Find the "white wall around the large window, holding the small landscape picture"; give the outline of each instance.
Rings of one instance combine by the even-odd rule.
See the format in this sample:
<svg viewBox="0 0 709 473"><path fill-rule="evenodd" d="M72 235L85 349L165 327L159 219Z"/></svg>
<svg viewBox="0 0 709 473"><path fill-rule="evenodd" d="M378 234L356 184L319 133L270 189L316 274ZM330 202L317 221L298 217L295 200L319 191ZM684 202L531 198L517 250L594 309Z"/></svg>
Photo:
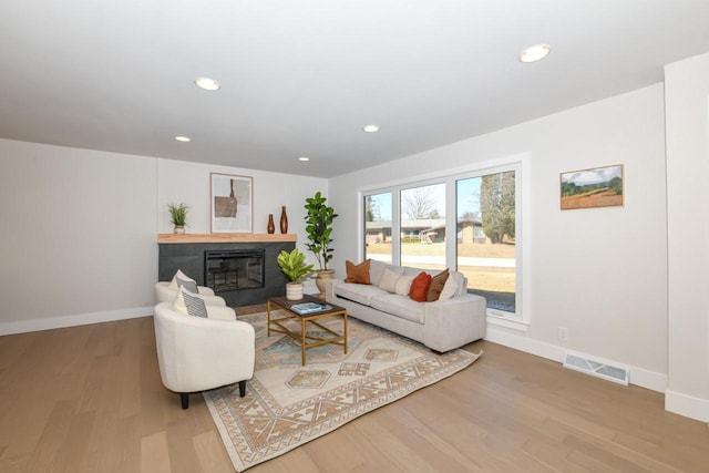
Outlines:
<svg viewBox="0 0 709 473"><path fill-rule="evenodd" d="M667 374L667 236L664 93L657 84L625 95L454 143L330 181L341 217L335 268L362 255L357 189L440 169L526 156L523 198L531 208L531 325L526 332L491 327L490 338L561 359L569 349L633 369L631 380L664 390ZM559 173L625 165L625 206L559 209ZM445 172L445 171L443 171ZM394 177L395 176L395 177ZM566 343L557 328L568 329Z"/></svg>

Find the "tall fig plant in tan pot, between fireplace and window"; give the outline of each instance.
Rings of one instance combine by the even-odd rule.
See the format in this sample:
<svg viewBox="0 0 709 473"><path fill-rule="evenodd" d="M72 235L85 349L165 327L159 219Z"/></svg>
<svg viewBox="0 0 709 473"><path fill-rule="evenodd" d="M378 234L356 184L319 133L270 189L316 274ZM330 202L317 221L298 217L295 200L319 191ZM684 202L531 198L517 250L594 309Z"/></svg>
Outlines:
<svg viewBox="0 0 709 473"><path fill-rule="evenodd" d="M333 269L328 268L328 261L332 259L331 247L332 238L332 220L337 217L335 209L327 205L327 197L318 191L314 197L306 198L305 208L306 215L306 232L308 234L309 243L306 247L315 254L320 269L316 273L318 277L315 282L320 290L320 294L325 292L326 281L332 278L335 274Z"/></svg>

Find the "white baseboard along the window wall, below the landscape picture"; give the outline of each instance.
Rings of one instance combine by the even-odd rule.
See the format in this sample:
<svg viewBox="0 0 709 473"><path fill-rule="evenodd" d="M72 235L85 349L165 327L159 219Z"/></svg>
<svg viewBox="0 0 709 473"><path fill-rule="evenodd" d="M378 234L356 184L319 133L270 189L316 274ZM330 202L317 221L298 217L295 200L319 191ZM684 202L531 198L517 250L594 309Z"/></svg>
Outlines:
<svg viewBox="0 0 709 473"><path fill-rule="evenodd" d="M485 340L494 343L504 345L505 347L514 348L515 350L524 351L526 353L535 354L537 357L546 358L562 363L564 361L564 353L566 348L552 343L546 343L540 340L533 340L526 337L520 337L511 333L506 330L501 330L497 327L487 325L487 336ZM595 353L575 353L583 354L587 358L598 359ZM665 393L667 390L667 374L649 371L644 368L633 367L613 360L602 360L609 364L621 366L630 372L630 384L639 385L640 388L650 389L653 391Z"/></svg>

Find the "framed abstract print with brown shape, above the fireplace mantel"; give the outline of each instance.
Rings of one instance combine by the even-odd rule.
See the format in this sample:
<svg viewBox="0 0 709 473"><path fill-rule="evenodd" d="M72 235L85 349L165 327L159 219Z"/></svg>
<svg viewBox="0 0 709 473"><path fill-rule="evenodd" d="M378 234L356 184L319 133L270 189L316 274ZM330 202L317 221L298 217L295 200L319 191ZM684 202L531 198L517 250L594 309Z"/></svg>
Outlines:
<svg viewBox="0 0 709 473"><path fill-rule="evenodd" d="M212 233L253 233L254 179L210 173Z"/></svg>

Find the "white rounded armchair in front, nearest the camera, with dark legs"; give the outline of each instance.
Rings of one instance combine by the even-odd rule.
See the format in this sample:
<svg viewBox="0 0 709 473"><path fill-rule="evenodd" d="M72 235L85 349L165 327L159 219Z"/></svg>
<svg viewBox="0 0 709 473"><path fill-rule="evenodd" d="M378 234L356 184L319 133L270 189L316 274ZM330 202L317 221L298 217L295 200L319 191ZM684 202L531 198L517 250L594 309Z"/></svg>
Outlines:
<svg viewBox="0 0 709 473"><path fill-rule="evenodd" d="M174 311L167 302L155 306L155 340L160 374L165 388L178 392L182 408L189 393L239 383L254 376L255 332L237 321L233 309L207 306L208 318Z"/></svg>

